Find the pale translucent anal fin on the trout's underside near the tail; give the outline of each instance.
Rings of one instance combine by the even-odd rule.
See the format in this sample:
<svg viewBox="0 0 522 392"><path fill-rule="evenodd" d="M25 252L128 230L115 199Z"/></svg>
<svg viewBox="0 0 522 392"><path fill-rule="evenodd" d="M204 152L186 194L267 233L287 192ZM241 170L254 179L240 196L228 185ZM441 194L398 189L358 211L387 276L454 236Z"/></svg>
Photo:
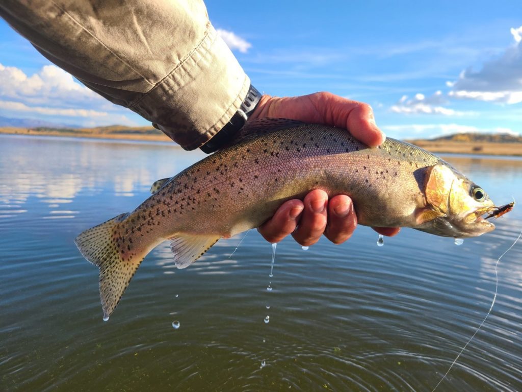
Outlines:
<svg viewBox="0 0 522 392"><path fill-rule="evenodd" d="M170 248L177 268L187 268L216 244L220 235L179 234L170 239Z"/></svg>

